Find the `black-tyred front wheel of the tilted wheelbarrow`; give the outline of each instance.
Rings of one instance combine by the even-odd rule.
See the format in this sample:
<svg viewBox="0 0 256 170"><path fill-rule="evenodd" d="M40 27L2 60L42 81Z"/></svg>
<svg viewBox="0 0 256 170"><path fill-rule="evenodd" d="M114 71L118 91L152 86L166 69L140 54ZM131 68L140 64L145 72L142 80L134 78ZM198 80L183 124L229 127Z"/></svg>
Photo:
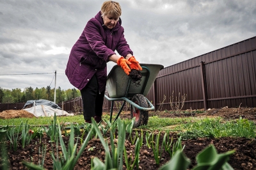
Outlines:
<svg viewBox="0 0 256 170"><path fill-rule="evenodd" d="M132 102L139 105L140 107L148 107L147 99L137 94L132 97ZM131 118L135 117L133 127L140 127L140 125L147 125L148 123L148 111L143 111L131 105Z"/></svg>

